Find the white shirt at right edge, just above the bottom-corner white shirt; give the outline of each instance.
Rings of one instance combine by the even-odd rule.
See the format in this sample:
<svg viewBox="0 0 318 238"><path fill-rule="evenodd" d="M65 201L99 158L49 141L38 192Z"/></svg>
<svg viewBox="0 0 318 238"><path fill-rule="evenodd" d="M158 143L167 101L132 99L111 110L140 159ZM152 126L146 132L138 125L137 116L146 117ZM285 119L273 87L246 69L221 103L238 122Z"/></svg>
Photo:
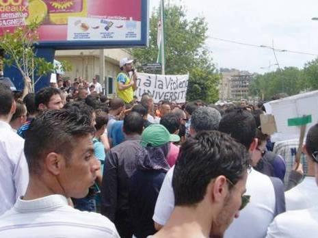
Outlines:
<svg viewBox="0 0 318 238"><path fill-rule="evenodd" d="M318 187L315 177L307 176L304 181L285 192L286 211L308 209L318 205Z"/></svg>

